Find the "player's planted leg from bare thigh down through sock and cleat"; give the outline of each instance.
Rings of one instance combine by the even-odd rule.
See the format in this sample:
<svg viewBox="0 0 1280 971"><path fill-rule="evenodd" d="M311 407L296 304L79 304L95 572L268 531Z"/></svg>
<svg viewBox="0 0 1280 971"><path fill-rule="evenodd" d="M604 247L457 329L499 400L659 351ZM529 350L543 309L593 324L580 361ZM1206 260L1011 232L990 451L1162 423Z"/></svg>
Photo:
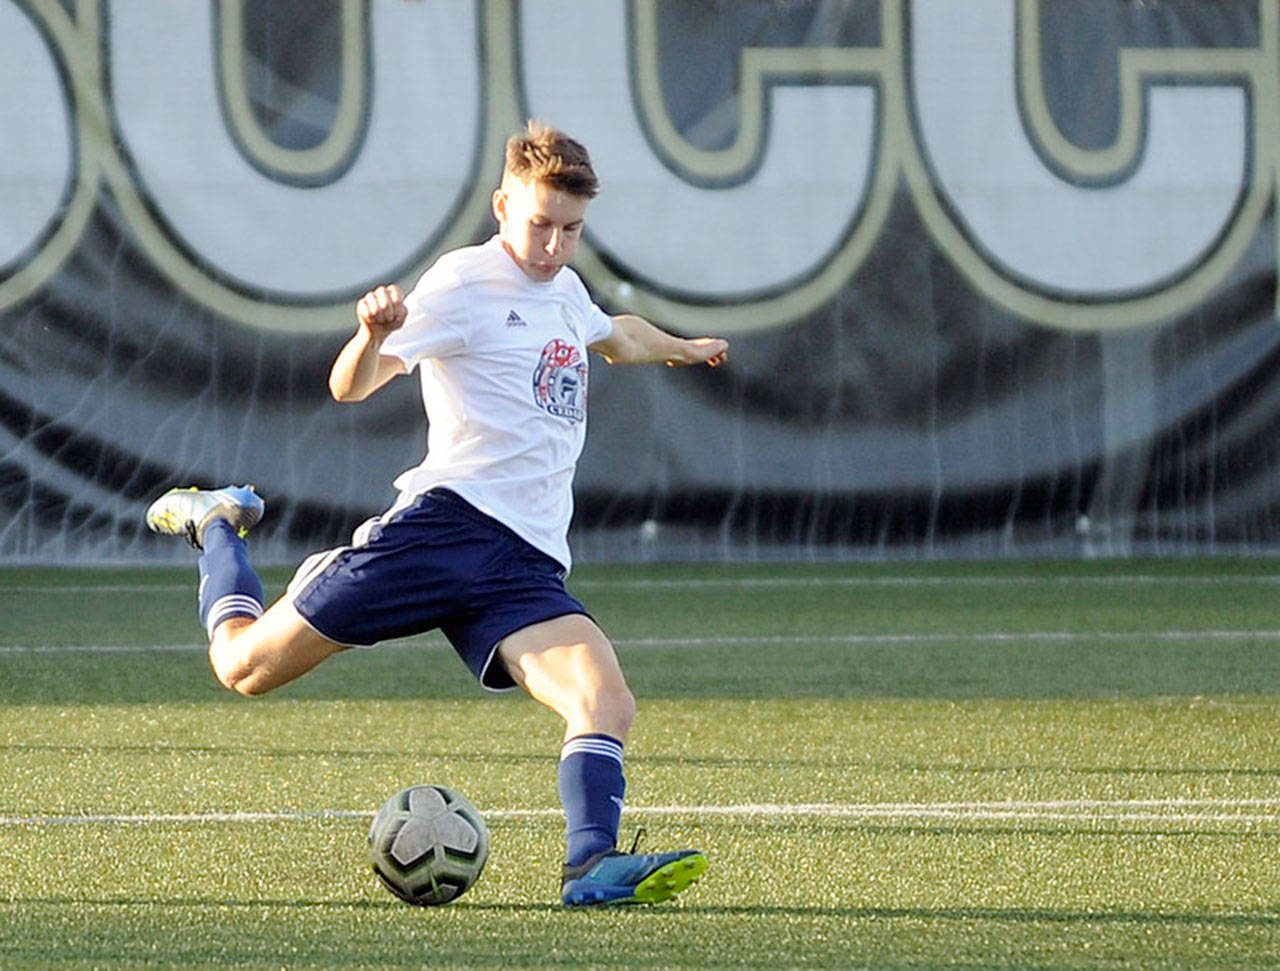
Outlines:
<svg viewBox="0 0 1280 971"><path fill-rule="evenodd" d="M589 617L570 614L517 631L498 651L516 683L564 719L559 794L567 862L561 901L570 907L655 903L701 876L707 857L696 849L616 848L626 789L622 743L635 699L604 632Z"/></svg>

